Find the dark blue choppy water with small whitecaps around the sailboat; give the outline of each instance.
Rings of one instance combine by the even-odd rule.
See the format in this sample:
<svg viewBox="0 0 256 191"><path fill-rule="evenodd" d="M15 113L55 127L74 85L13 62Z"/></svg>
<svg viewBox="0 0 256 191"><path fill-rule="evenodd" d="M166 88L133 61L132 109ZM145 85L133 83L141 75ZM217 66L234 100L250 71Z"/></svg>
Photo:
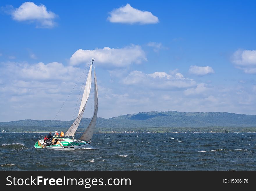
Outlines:
<svg viewBox="0 0 256 191"><path fill-rule="evenodd" d="M35 149L39 135L0 133L0 170L256 170L256 133L97 133L74 151Z"/></svg>

